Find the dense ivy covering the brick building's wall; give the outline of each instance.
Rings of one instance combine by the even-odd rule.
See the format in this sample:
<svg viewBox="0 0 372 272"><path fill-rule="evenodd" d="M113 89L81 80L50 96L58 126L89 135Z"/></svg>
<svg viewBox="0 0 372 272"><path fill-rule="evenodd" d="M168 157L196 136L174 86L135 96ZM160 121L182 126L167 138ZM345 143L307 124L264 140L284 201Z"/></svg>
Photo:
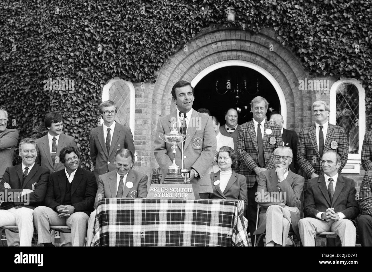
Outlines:
<svg viewBox="0 0 372 272"><path fill-rule="evenodd" d="M0 107L9 111L8 127L40 137L45 114L60 112L87 168L105 83L156 80L167 58L212 24L274 29L310 74L360 80L372 123L370 0L1 2ZM225 19L229 6L237 12L233 23Z"/></svg>

